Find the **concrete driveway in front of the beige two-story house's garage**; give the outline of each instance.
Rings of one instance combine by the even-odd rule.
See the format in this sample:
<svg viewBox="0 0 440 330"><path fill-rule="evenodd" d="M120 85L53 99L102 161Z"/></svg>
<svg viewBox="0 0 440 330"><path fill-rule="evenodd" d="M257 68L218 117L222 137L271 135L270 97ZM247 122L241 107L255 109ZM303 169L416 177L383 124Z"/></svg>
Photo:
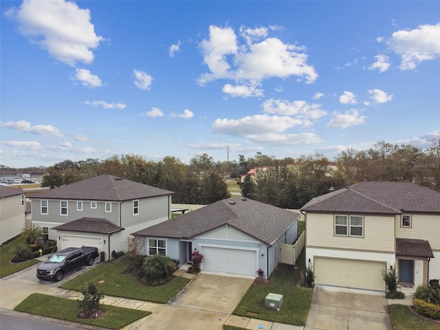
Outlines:
<svg viewBox="0 0 440 330"><path fill-rule="evenodd" d="M316 285L305 329L392 330L384 293Z"/></svg>

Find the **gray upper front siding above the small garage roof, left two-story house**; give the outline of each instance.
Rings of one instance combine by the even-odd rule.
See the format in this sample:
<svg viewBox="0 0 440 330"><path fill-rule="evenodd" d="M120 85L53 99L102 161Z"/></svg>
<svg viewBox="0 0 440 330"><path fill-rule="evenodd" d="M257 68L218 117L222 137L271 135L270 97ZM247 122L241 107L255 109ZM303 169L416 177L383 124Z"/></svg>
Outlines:
<svg viewBox="0 0 440 330"><path fill-rule="evenodd" d="M43 199L45 200L45 199ZM105 212L105 201L96 201L97 207L91 208L90 201L83 201L83 210L76 209L77 201L67 201L67 216L61 215L59 199L48 199L48 214L41 214L41 199L32 199L32 221L44 221L49 223L67 223L83 217L107 219L119 225L119 203L111 203L111 212Z"/></svg>

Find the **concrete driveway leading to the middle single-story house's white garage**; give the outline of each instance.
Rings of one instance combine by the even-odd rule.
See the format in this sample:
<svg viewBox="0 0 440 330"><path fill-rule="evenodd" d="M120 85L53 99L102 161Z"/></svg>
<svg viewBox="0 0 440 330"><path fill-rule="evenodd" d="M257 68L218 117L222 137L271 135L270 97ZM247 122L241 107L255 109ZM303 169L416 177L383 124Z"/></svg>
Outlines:
<svg viewBox="0 0 440 330"><path fill-rule="evenodd" d="M199 274L173 301L124 329L221 330L254 278Z"/></svg>

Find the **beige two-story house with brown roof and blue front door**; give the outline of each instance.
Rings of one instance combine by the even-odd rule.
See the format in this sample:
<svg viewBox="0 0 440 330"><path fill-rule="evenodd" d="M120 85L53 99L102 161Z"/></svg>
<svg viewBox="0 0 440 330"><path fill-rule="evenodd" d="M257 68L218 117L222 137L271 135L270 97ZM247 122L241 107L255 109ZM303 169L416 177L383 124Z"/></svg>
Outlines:
<svg viewBox="0 0 440 330"><path fill-rule="evenodd" d="M316 284L385 290L397 267L402 287L440 278L440 192L410 182L362 182L311 199L306 261Z"/></svg>

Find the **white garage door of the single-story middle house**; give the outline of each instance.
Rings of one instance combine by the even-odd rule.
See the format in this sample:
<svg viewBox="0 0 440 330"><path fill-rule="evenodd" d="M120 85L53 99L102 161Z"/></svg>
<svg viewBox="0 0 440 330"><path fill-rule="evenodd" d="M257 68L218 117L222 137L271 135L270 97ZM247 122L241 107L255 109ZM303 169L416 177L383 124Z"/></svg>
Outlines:
<svg viewBox="0 0 440 330"><path fill-rule="evenodd" d="M201 270L233 275L256 276L256 250L201 247L204 256Z"/></svg>

